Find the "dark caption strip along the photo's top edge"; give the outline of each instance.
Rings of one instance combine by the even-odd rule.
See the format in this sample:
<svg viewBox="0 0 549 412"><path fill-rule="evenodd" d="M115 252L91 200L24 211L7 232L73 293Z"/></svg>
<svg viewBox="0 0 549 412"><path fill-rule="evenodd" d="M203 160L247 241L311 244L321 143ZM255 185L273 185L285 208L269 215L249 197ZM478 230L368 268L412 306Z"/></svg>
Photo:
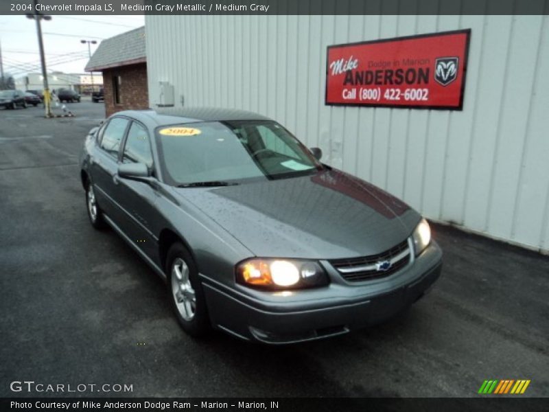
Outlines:
<svg viewBox="0 0 549 412"><path fill-rule="evenodd" d="M0 1L0 14L26 14L29 10L12 10L11 4L26 5L32 0L3 0ZM109 10L89 9L85 12L76 11L75 5L102 5L112 4L114 14L135 15L135 14L156 14L156 15L174 15L174 14L202 14L202 15L349 15L349 14L371 14L371 15L474 15L474 14L494 14L494 15L543 15L549 14L549 0L231 0L231 1L212 1L212 0L109 0L100 2L97 0L40 0L41 3L48 5L65 5L60 10L43 10L46 14L54 15L113 15ZM179 11L176 8L172 10L156 10L156 4L160 5L200 5L191 10ZM232 8L230 10L215 10L215 4L225 5L245 5L246 8ZM251 5L259 4L269 6L268 10L250 10ZM121 10L121 5L140 5L137 10ZM143 5L152 6L150 10L145 11ZM71 7L69 7L71 6Z"/></svg>

